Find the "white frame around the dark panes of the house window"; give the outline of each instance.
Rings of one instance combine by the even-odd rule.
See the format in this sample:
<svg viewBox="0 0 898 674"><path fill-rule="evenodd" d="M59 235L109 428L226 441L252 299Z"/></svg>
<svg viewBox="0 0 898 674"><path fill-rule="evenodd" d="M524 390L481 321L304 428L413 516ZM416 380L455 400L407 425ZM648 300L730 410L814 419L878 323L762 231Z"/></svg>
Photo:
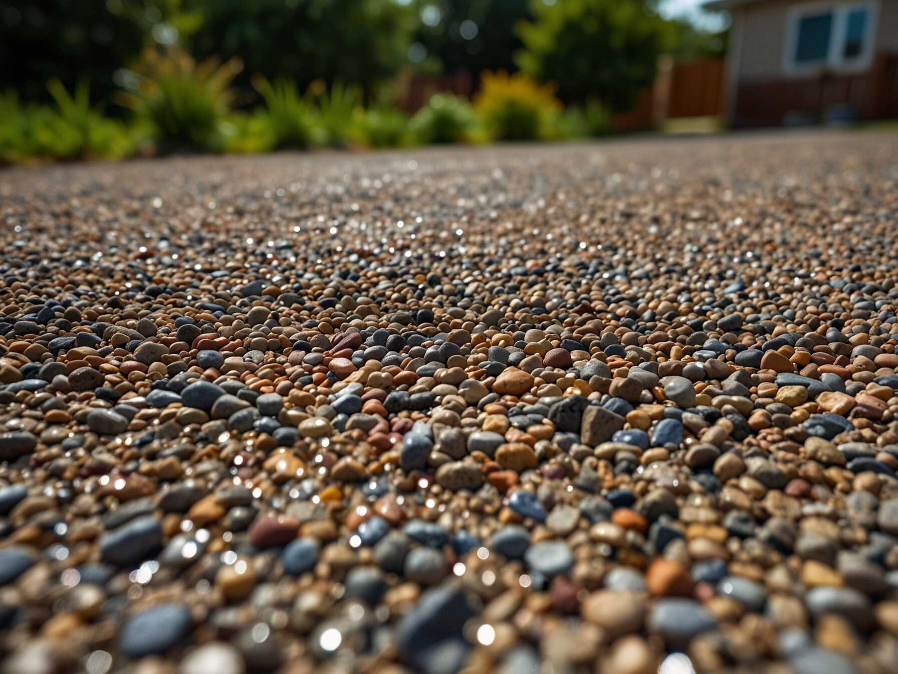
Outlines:
<svg viewBox="0 0 898 674"><path fill-rule="evenodd" d="M842 57L845 49L845 29L852 10L863 7L867 10L867 27L861 44L860 54L849 60ZM786 40L783 43L782 69L788 75L816 75L823 70L837 73L851 73L867 70L873 61L876 42L876 21L879 0L858 0L856 2L816 2L801 3L789 8L786 16ZM813 63L796 63L795 50L798 46L798 27L802 19L824 12L832 13L832 31L827 57Z"/></svg>

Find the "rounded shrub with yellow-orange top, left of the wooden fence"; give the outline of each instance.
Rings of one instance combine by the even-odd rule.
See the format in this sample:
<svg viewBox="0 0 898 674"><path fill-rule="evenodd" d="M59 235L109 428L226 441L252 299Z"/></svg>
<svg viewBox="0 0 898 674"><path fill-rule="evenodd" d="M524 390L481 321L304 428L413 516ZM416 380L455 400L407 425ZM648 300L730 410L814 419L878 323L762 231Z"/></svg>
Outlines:
<svg viewBox="0 0 898 674"><path fill-rule="evenodd" d="M538 84L524 73L484 71L474 110L497 140L539 140L552 136L561 103L551 84Z"/></svg>

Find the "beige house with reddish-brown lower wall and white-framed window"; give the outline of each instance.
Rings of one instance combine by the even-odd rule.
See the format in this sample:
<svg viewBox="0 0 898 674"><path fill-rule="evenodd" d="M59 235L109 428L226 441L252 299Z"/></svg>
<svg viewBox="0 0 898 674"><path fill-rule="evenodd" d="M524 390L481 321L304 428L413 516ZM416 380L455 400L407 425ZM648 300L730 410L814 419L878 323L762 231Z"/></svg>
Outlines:
<svg viewBox="0 0 898 674"><path fill-rule="evenodd" d="M714 0L735 128L898 117L898 0Z"/></svg>

